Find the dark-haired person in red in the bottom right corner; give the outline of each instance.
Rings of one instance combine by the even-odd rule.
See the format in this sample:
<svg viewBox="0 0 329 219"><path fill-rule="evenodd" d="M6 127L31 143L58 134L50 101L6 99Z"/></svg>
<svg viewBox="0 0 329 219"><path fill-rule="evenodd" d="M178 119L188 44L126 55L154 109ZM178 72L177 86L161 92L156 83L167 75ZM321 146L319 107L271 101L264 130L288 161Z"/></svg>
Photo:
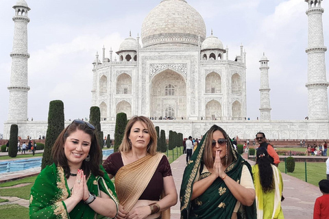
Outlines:
<svg viewBox="0 0 329 219"><path fill-rule="evenodd" d="M319 188L322 196L315 200L313 219L329 218L329 180L322 179L319 181Z"/></svg>

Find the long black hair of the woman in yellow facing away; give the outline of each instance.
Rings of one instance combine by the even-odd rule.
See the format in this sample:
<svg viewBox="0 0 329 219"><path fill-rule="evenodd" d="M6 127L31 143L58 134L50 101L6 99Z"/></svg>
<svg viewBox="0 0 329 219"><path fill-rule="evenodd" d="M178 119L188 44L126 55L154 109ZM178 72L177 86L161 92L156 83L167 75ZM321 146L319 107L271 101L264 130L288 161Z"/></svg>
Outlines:
<svg viewBox="0 0 329 219"><path fill-rule="evenodd" d="M274 189L273 169L269 153L263 147L257 149L256 164L258 164L260 185L262 185L263 192L271 192Z"/></svg>

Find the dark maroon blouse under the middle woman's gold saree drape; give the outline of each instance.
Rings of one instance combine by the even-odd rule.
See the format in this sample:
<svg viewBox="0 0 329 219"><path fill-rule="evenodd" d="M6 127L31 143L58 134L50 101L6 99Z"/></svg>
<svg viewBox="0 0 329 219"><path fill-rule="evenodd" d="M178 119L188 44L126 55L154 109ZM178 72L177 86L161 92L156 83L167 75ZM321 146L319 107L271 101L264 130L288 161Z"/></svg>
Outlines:
<svg viewBox="0 0 329 219"><path fill-rule="evenodd" d="M123 166L121 153L112 153L103 163L103 167L108 174L115 176L118 170ZM160 160L156 172L149 181L141 197L138 200L159 201L163 190L163 177L172 176L170 164L166 156Z"/></svg>

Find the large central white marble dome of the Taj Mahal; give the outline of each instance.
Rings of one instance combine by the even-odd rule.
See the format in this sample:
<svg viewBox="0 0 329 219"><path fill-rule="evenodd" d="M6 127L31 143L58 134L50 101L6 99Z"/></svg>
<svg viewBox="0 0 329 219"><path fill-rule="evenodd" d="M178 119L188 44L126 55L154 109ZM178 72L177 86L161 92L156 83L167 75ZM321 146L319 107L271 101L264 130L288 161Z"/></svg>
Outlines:
<svg viewBox="0 0 329 219"><path fill-rule="evenodd" d="M163 0L142 24L143 47L197 46L206 38L202 16L184 0Z"/></svg>

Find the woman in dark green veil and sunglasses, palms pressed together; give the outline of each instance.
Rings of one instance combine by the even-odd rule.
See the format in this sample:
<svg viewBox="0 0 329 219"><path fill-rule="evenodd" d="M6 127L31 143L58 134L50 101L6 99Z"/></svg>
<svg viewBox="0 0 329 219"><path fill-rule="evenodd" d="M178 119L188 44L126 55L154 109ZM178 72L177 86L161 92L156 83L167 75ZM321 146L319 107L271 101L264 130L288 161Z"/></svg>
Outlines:
<svg viewBox="0 0 329 219"><path fill-rule="evenodd" d="M252 168L213 125L184 170L181 218L256 219Z"/></svg>

